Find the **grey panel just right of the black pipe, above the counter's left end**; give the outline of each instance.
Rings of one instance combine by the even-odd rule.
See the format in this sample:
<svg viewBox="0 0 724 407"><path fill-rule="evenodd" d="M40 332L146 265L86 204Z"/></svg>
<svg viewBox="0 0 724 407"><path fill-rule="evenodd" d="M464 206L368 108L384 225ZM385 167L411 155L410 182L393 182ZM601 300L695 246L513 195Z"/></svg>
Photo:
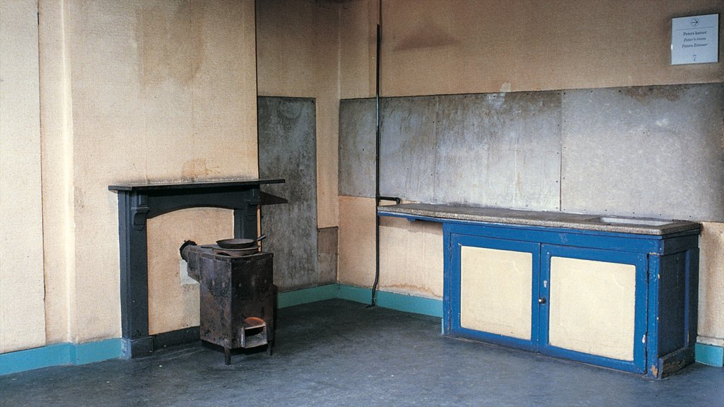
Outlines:
<svg viewBox="0 0 724 407"><path fill-rule="evenodd" d="M380 101L379 191L433 202L438 96Z"/></svg>

